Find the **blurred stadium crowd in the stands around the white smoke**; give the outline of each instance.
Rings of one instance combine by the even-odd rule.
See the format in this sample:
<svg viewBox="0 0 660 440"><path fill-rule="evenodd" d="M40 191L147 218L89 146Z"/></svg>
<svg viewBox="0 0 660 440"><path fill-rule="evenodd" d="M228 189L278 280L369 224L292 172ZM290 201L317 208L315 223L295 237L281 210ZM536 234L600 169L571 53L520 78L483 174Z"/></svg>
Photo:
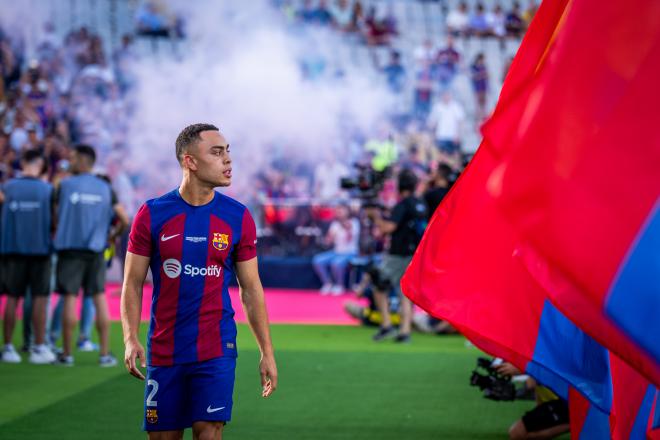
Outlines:
<svg viewBox="0 0 660 440"><path fill-rule="evenodd" d="M365 169L383 172L378 192L371 197L388 211L400 196L397 179L402 172L411 172L419 182L412 195L427 202L432 199L426 207L428 219L469 159L464 150L466 132L487 115L488 96L497 84L489 78L483 53L468 65L461 48L471 40L519 39L535 2L524 11L517 2L506 12L498 4L487 11L479 2L445 8L445 34L429 35L409 52L399 48L407 30L388 4L360 0L273 0L271 4L301 38L306 30L323 27L335 30L348 45L366 47L372 55L369 68L400 104L371 132L346 130L334 141L340 147L325 149L325 156L316 160L285 158L276 146L265 145L272 149L270 159L252 171L250 181L256 184L241 194L255 211L263 238L260 252L310 260L316 255L321 291L341 294L353 287L349 275L361 274L360 268L370 261L364 263L359 257L381 253L391 237L375 227L373 213L361 207L364 188L348 190L340 181L356 173L359 177ZM135 99L130 66L137 57L148 55L140 52L135 39L185 38L185 22L164 5L143 2L135 15L134 34L123 36L110 55L108 45L93 30L72 29L59 41L53 26L46 24L36 53L28 58L20 36L0 29L0 183L21 177L23 161L37 152L45 161L38 177L58 187L72 171L74 146L91 145L99 158L96 170L113 182L129 217L141 201L155 195L145 193L149 186L144 183L150 177L144 170L122 158L129 151L127 127ZM441 39L444 45L436 46ZM501 56L509 58L505 45L501 47ZM300 59L300 69L309 81L318 81L338 74L330 68L337 65L331 61L308 53ZM456 93L456 78L461 75L469 78L474 105ZM362 167L359 172L354 164ZM442 331L451 329L442 327Z"/></svg>

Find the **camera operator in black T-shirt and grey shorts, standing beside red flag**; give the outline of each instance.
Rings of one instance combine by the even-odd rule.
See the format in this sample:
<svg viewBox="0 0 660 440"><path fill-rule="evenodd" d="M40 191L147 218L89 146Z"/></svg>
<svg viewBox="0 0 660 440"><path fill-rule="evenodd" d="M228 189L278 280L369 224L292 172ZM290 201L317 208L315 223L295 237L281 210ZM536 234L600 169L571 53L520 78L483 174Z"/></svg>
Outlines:
<svg viewBox="0 0 660 440"><path fill-rule="evenodd" d="M396 334L389 316L387 297L388 290L394 287L401 296L401 324L395 341L410 342L412 303L401 295L399 284L426 226L426 205L414 196L416 186L415 174L403 169L399 173L397 184L399 202L392 209L389 218L384 219L377 208L367 208L366 211L376 227L383 234L390 236L387 254L383 256L376 276L373 277L374 299L383 317L380 330L373 337L374 341L394 337Z"/></svg>

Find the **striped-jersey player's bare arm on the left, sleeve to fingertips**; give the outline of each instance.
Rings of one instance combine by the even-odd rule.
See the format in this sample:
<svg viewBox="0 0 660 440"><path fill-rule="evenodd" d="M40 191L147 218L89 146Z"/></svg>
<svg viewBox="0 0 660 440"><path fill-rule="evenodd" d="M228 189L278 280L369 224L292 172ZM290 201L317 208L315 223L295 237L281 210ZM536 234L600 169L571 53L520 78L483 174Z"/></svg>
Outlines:
<svg viewBox="0 0 660 440"><path fill-rule="evenodd" d="M140 344L140 315L142 313L142 286L149 269L149 257L126 253L124 285L121 291L121 326L124 332L124 364L126 369L138 379L144 375L137 368L140 359L142 368L147 366L144 347Z"/></svg>

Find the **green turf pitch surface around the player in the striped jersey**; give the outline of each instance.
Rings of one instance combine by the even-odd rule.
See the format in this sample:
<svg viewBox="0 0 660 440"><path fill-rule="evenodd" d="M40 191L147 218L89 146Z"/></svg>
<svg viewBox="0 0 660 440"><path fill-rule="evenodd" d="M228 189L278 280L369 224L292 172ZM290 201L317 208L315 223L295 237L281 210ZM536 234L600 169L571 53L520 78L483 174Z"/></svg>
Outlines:
<svg viewBox="0 0 660 440"><path fill-rule="evenodd" d="M20 329L20 325L17 326ZM529 401L492 402L468 384L478 350L461 337L414 335L374 343L373 329L273 325L280 384L260 396L258 351L239 326L232 422L226 439L505 439ZM17 338L18 340L18 338ZM121 330L112 347L123 356ZM0 364L0 439L143 438L144 383L124 367ZM189 430L185 438L192 438Z"/></svg>

